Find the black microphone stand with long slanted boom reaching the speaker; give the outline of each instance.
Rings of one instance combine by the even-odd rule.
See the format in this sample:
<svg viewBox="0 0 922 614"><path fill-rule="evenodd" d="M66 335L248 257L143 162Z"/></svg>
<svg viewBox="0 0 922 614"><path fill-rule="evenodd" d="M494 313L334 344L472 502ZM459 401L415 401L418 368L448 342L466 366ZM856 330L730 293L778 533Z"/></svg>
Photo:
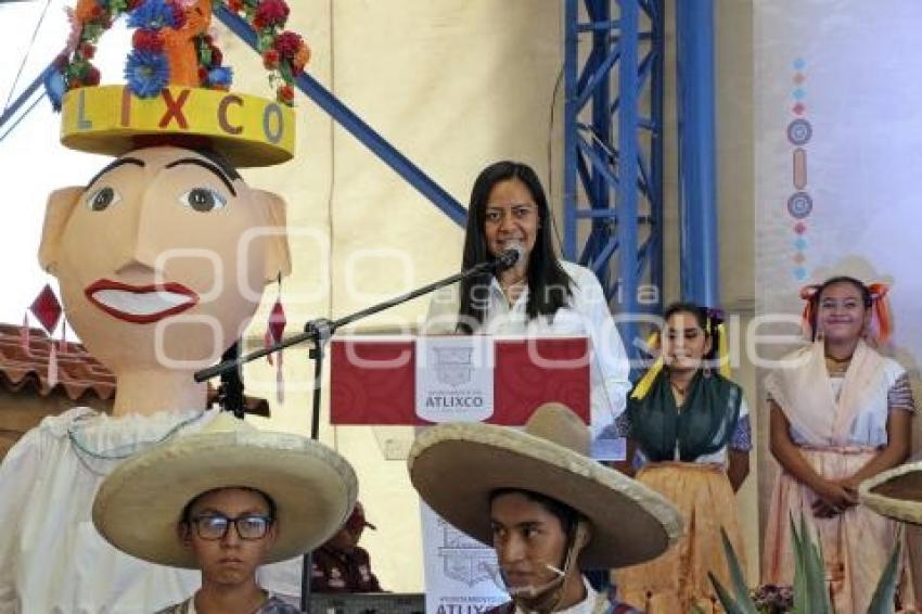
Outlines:
<svg viewBox="0 0 922 614"><path fill-rule="evenodd" d="M289 338L282 340L279 343L272 345L271 347L264 347L255 351L251 351L245 356L222 360L220 363L214 367L196 371L194 374L194 379L196 382L204 382L206 380L210 380L212 378L221 375L228 371L240 369L243 364L256 360L257 358L262 358L264 356L268 356L269 354L279 351L280 349L284 349L286 347L291 347L293 345L310 341L313 346L311 347L310 353L308 355L310 359L313 360L313 405L311 410L310 438L317 440L320 437L320 382L321 373L323 371L324 348L326 346L326 342L330 341L330 337L333 336L333 333L336 332L337 329L340 329L341 327L345 327L346 324L350 324L356 320L361 320L362 318L367 318L368 316L377 314L379 311L384 311L385 309L396 307L397 305L400 305L408 300L412 300L413 298L417 298L419 296L430 294L431 292L435 292L436 290L445 287L446 285L451 285L452 283L457 283L459 281L485 272L508 269L515 265L516 261L518 261L521 255L521 247L508 250L500 254L494 260L481 263L479 265L475 265L470 269L461 271L460 273L456 273L451 277L447 277L439 281L430 283L428 285L424 285L406 294L401 294L395 298L385 300L384 303L372 305L371 307L362 309L361 311L357 311L350 316L340 318L338 320L329 320L326 318L318 318L315 320L310 320L304 325L304 332L293 335ZM310 552L306 552L304 554L304 562L300 575L300 609L303 612L310 611L310 573L311 554Z"/></svg>

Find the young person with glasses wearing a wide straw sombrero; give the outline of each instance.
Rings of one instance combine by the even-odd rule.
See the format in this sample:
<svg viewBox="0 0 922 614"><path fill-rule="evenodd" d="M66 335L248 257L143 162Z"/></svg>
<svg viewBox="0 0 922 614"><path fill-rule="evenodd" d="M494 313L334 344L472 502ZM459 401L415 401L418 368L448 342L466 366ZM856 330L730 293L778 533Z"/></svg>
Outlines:
<svg viewBox="0 0 922 614"><path fill-rule="evenodd" d="M202 587L164 614L287 614L298 610L264 590L256 568L323 543L356 490L353 468L326 446L222 413L116 468L92 519L132 557L201 571Z"/></svg>

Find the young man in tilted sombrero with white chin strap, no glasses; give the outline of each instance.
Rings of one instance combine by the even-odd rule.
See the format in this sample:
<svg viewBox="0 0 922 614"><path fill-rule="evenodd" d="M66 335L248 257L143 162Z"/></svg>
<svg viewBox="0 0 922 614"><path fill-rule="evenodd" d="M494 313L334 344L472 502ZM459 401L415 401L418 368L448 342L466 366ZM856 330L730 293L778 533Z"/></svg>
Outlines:
<svg viewBox="0 0 922 614"><path fill-rule="evenodd" d="M441 517L491 543L512 601L502 613L632 612L581 570L620 567L681 534L662 496L589 458L589 428L568 408L538 408L524 431L450 423L422 433L410 479Z"/></svg>

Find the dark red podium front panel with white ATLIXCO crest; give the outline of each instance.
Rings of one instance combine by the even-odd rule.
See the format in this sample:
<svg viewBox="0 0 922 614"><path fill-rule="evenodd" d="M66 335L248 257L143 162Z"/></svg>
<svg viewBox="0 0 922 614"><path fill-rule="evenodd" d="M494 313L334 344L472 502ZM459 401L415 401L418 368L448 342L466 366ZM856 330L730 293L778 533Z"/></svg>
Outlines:
<svg viewBox="0 0 922 614"><path fill-rule="evenodd" d="M578 336L334 337L331 422L520 426L542 404L559 401L588 423L588 347Z"/></svg>

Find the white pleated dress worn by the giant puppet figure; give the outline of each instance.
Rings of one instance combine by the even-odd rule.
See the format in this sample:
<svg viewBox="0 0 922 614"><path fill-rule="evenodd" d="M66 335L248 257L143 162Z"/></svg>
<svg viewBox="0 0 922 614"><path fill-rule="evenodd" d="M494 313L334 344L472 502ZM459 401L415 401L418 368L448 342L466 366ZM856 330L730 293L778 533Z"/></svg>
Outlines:
<svg viewBox="0 0 922 614"><path fill-rule="evenodd" d="M77 407L46 418L17 442L0 464L0 612L150 614L195 592L202 584L199 571L123 553L99 535L90 510L100 483L121 459L194 433L216 414L112 418ZM156 496L151 493L152 499ZM297 594L299 586L292 584L297 574L284 567L261 570L260 584Z"/></svg>

